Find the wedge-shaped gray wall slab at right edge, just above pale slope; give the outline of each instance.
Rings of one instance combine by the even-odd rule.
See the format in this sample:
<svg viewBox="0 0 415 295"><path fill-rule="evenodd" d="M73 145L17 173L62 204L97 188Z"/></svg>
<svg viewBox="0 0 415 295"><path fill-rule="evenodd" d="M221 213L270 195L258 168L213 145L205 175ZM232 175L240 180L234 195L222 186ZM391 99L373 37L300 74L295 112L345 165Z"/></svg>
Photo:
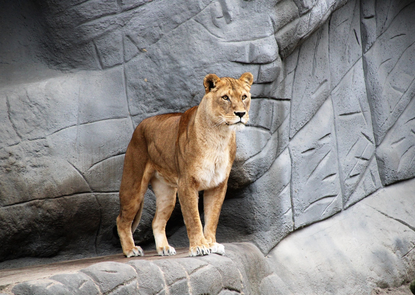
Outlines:
<svg viewBox="0 0 415 295"><path fill-rule="evenodd" d="M376 149L384 185L415 176L415 93Z"/></svg>

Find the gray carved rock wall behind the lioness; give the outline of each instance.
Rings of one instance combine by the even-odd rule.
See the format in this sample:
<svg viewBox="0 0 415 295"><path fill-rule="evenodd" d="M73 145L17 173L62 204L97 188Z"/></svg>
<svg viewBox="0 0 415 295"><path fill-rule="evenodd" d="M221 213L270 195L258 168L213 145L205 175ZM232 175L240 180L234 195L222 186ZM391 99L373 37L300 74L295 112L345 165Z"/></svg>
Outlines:
<svg viewBox="0 0 415 295"><path fill-rule="evenodd" d="M395 0L1 2L0 261L120 251L134 127L197 104L211 72L255 77L219 241L265 254L415 177L414 10ZM149 190L138 243L152 242L154 211ZM188 243L179 207L168 235Z"/></svg>

